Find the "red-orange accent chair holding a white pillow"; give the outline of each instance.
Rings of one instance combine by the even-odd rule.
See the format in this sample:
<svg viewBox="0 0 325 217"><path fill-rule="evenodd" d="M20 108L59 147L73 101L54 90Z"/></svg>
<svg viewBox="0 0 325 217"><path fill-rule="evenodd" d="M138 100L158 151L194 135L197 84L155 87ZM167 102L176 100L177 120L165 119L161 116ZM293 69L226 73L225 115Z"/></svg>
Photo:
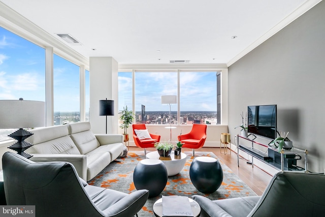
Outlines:
<svg viewBox="0 0 325 217"><path fill-rule="evenodd" d="M143 123L136 123L134 125L132 125L132 128L133 128L133 139L134 139L134 142L136 143L136 145L140 148L144 148L144 155L147 154L147 151L146 151L146 148L151 148L151 147L154 147L154 144L156 142L159 142L160 141L160 135L156 135L156 134L151 134L149 133L151 139L140 139L135 130L146 130L146 125L143 124Z"/></svg>

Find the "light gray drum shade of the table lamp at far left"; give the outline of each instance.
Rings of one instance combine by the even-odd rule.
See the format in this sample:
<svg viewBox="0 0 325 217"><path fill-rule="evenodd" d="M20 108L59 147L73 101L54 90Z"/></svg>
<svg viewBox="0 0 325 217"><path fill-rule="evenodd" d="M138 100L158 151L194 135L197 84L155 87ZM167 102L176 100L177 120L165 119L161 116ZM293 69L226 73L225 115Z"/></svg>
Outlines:
<svg viewBox="0 0 325 217"><path fill-rule="evenodd" d="M45 102L0 100L0 129L45 126Z"/></svg>

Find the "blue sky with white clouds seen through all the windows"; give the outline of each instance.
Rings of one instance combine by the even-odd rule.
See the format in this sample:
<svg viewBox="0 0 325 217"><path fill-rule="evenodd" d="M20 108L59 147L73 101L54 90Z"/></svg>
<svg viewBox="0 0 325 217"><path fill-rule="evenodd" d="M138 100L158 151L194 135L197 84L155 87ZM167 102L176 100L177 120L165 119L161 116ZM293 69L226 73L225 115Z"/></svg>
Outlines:
<svg viewBox="0 0 325 217"><path fill-rule="evenodd" d="M54 112L79 111L79 66L53 56ZM119 105L132 109L132 73L119 73ZM176 72L136 72L136 111L169 110L161 96L177 95ZM216 111L216 72L180 73L180 110ZM45 101L45 49L0 27L0 100ZM86 111L89 111L86 72ZM177 104L171 105L172 111Z"/></svg>

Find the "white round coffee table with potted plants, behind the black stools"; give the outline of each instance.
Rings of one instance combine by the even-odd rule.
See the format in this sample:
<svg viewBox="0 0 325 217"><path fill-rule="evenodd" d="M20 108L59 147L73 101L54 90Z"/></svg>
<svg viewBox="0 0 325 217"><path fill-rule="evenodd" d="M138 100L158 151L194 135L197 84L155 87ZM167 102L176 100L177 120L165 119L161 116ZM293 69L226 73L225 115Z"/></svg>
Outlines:
<svg viewBox="0 0 325 217"><path fill-rule="evenodd" d="M160 157L158 151L151 151L146 154L146 158L161 160L167 168L168 176L173 176L184 168L187 155L181 152L179 156L175 156L174 151L172 151L170 157Z"/></svg>

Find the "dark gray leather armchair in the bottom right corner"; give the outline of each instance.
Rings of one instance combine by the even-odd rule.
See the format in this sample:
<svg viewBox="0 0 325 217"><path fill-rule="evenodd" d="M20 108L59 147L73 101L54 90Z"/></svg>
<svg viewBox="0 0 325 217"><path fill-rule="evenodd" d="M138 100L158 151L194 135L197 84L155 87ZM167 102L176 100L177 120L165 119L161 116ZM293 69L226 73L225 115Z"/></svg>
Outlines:
<svg viewBox="0 0 325 217"><path fill-rule="evenodd" d="M261 197L209 200L194 195L201 216L324 216L325 175L284 171L275 174Z"/></svg>

